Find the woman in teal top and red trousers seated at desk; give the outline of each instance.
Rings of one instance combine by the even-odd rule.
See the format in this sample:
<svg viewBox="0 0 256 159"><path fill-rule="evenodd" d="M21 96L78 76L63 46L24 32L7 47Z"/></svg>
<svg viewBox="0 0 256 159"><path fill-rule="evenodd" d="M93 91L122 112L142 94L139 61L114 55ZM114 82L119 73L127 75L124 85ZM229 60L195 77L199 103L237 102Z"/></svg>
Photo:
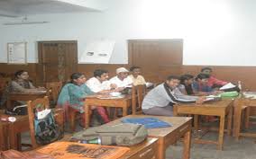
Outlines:
<svg viewBox="0 0 256 159"><path fill-rule="evenodd" d="M71 82L65 84L59 93L58 98L58 107L62 107L66 111L66 117L68 117L68 107L72 107L75 110L78 110L80 113L84 113L84 101L87 96L96 95L92 92L86 83L86 77L80 73L74 73L70 76ZM106 111L103 107L94 107L96 113L104 120L104 122L109 122L109 119L106 115ZM82 115L83 117L83 115Z"/></svg>

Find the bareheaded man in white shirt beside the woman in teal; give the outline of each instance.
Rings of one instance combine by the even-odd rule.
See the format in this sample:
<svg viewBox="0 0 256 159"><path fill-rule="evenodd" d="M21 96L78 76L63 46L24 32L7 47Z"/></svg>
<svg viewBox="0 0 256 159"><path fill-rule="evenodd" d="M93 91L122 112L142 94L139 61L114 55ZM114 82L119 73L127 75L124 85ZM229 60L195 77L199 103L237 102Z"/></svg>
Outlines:
<svg viewBox="0 0 256 159"><path fill-rule="evenodd" d="M109 84L108 71L104 69L96 69L94 77L87 80L87 86L94 93L111 93L116 88L116 84Z"/></svg>

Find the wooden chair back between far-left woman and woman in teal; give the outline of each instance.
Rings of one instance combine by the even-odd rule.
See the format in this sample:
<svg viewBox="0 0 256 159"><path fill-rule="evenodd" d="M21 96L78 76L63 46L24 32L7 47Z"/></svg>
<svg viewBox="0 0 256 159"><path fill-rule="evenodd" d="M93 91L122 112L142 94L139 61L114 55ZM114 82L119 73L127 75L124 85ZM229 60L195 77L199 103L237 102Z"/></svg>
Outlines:
<svg viewBox="0 0 256 159"><path fill-rule="evenodd" d="M62 82L51 82L45 84L47 89L47 96L49 96L50 101L55 105L58 101L58 96L62 88Z"/></svg>

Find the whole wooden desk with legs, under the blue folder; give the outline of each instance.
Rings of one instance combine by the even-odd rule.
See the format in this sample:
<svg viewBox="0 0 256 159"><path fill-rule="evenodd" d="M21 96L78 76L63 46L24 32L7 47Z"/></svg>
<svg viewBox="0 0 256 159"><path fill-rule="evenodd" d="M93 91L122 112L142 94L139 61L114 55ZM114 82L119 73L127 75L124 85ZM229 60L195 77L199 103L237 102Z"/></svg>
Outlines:
<svg viewBox="0 0 256 159"><path fill-rule="evenodd" d="M158 158L165 159L165 151L168 146L175 144L180 137L184 136L183 159L189 159L191 143L191 118L187 117L164 117L148 115L129 115L125 118L157 118L166 121L172 125L169 128L150 128L148 129L149 137L158 138ZM122 119L116 119L108 124L118 124Z"/></svg>

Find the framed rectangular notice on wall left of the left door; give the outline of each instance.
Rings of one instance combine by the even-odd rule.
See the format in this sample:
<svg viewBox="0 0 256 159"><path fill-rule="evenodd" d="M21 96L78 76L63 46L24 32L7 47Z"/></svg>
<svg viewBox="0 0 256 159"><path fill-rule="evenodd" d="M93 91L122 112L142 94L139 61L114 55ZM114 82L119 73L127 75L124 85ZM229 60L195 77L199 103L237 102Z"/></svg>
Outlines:
<svg viewBox="0 0 256 159"><path fill-rule="evenodd" d="M9 42L7 43L7 63L8 64L26 64L27 63L27 43Z"/></svg>

